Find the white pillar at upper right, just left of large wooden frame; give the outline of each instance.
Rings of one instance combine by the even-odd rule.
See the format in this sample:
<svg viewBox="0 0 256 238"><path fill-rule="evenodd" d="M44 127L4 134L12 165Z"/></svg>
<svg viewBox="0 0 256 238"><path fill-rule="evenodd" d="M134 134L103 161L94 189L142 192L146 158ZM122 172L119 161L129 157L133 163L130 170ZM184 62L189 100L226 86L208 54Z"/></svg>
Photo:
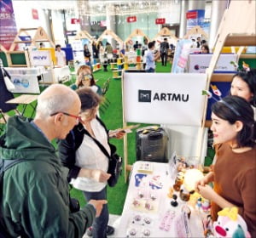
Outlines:
<svg viewBox="0 0 256 238"><path fill-rule="evenodd" d="M218 26L222 20L224 10L227 8L228 1L212 0L211 26L209 34L209 47L212 48L218 31ZM236 16L235 16L236 17Z"/></svg>

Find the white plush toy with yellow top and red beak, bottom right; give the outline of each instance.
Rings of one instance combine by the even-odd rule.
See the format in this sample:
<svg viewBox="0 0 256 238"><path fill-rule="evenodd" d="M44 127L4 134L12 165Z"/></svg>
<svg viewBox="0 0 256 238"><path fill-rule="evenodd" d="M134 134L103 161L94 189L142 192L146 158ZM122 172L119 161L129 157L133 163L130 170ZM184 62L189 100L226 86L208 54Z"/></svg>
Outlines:
<svg viewBox="0 0 256 238"><path fill-rule="evenodd" d="M218 212L218 220L213 223L214 237L251 238L247 224L238 214L237 207L227 207Z"/></svg>

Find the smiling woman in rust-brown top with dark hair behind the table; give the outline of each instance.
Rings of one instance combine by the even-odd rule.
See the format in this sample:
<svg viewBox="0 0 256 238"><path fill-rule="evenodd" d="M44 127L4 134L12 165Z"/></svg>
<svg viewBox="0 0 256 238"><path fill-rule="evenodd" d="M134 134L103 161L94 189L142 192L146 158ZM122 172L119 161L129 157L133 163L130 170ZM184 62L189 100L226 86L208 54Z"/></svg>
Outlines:
<svg viewBox="0 0 256 238"><path fill-rule="evenodd" d="M227 96L212 105L213 170L195 184L212 201L212 220L224 207L238 207L252 237L256 237L256 122L251 105ZM214 189L207 185L214 183Z"/></svg>

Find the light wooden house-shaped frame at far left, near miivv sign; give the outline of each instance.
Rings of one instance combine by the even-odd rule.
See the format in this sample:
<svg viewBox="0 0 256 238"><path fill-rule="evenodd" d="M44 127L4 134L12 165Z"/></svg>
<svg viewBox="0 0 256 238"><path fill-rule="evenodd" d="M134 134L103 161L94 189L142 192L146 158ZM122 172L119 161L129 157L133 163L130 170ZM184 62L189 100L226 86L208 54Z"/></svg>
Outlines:
<svg viewBox="0 0 256 238"><path fill-rule="evenodd" d="M29 34L29 31L30 32L34 31L33 37L32 37L32 34ZM31 40L22 41L20 40L21 35L31 37ZM54 42L50 40L50 38L44 31L43 27L39 26L38 28L20 28L20 31L17 33L14 42L11 44L9 48L9 51L6 52L9 67L30 67L31 62L29 59L28 51L27 50L15 51L15 48L20 43L30 43L29 49L32 49L32 47L37 47L37 42L49 42L51 47L55 48ZM13 64L13 61L12 61L12 58L14 57L13 54L25 54L26 64L24 65Z"/></svg>

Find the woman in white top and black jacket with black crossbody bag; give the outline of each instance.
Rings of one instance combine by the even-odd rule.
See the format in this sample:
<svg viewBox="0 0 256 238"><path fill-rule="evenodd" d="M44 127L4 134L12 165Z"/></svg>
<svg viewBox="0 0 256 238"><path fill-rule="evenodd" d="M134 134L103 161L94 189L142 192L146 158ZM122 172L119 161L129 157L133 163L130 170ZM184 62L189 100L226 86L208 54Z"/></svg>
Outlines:
<svg viewBox="0 0 256 238"><path fill-rule="evenodd" d="M101 99L90 88L80 88L77 93L82 104L81 122L59 144L61 161L69 168L68 180L76 189L84 191L87 201L93 197L107 199L108 157L92 139L97 139L110 154L106 127L96 117ZM119 132L115 137L121 139L124 135ZM107 226L108 216L108 205L105 204L93 224L93 237L113 234L113 227Z"/></svg>

